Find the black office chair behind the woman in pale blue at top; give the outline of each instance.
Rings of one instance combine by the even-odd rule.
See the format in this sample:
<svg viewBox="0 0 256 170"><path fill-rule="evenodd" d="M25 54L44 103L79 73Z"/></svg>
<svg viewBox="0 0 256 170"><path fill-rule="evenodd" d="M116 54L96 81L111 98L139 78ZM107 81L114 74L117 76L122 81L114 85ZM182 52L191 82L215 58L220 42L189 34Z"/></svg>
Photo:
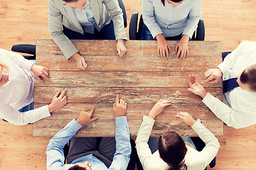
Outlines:
<svg viewBox="0 0 256 170"><path fill-rule="evenodd" d="M138 12L132 13L131 21L129 24L129 39L130 40L140 40L142 36L142 26L143 26L142 15L139 18L139 26L138 25ZM205 38L205 26L203 23L203 19L200 19L198 23L198 28L196 28L195 33L191 40L204 40Z"/></svg>

